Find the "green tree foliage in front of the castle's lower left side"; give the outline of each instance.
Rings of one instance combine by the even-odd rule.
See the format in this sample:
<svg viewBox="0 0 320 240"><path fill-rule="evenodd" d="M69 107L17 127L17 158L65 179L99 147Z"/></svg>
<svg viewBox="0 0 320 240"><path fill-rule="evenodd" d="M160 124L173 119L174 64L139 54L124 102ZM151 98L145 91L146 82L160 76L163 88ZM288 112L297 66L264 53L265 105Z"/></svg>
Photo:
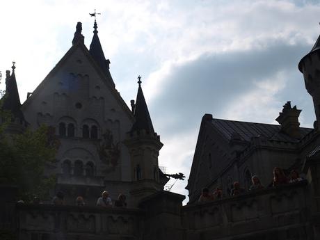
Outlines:
<svg viewBox="0 0 320 240"><path fill-rule="evenodd" d="M58 141L52 134L45 125L23 134L0 133L0 184L17 186L22 200L35 195L45 200L54 186L55 177L43 175L45 166L55 161Z"/></svg>

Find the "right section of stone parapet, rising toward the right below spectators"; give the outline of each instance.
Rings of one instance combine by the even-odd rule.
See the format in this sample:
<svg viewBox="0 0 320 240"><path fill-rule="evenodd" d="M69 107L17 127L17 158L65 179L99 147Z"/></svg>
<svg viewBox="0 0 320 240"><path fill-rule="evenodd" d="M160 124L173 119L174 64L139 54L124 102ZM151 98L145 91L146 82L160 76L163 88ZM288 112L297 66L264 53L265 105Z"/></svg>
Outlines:
<svg viewBox="0 0 320 240"><path fill-rule="evenodd" d="M307 181L182 207L185 239L312 239Z"/></svg>

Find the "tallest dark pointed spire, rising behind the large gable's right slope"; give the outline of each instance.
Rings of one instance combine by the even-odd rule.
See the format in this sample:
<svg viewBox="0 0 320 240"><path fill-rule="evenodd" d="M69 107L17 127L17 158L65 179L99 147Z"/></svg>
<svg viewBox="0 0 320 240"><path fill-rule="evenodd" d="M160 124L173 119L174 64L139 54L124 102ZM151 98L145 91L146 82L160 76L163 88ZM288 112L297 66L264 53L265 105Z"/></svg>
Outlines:
<svg viewBox="0 0 320 240"><path fill-rule="evenodd" d="M109 81L109 83L111 83L111 86L115 87L115 83L113 82L111 73L109 71L110 61L109 59L106 60L106 58L104 57L104 51L102 50L101 43L99 40L96 21L93 28L95 30L93 31L93 40L91 41L89 52L91 56L93 56L93 59L95 59L95 61L97 62L97 65L101 67L102 72L106 74L106 79Z"/></svg>

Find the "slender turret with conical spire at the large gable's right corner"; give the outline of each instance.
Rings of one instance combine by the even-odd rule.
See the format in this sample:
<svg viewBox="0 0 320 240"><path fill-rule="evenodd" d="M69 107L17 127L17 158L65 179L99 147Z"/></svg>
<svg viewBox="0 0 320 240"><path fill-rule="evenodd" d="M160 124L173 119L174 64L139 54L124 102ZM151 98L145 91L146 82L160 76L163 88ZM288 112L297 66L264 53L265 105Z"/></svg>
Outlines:
<svg viewBox="0 0 320 240"><path fill-rule="evenodd" d="M136 202L141 198L161 191L161 184L158 165L159 150L163 146L160 142L160 136L154 132L143 90L141 88L141 77L138 77L138 93L136 104L131 102L132 111L136 122L127 134L125 145L129 149L131 157L131 177L134 186L131 195Z"/></svg>

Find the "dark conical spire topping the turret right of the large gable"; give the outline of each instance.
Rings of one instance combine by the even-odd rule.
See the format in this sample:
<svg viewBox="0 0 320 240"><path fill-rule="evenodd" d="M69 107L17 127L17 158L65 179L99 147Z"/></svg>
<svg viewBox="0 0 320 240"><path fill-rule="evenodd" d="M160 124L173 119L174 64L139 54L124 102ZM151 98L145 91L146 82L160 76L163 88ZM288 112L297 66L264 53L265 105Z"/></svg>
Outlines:
<svg viewBox="0 0 320 240"><path fill-rule="evenodd" d="M154 134L150 114L147 110L147 103L145 102L145 97L141 88L140 75L138 76L138 84L138 94L136 95L136 104L134 107L134 117L136 118L136 122L134 122L134 125L131 128L131 132L145 130L148 134Z"/></svg>

